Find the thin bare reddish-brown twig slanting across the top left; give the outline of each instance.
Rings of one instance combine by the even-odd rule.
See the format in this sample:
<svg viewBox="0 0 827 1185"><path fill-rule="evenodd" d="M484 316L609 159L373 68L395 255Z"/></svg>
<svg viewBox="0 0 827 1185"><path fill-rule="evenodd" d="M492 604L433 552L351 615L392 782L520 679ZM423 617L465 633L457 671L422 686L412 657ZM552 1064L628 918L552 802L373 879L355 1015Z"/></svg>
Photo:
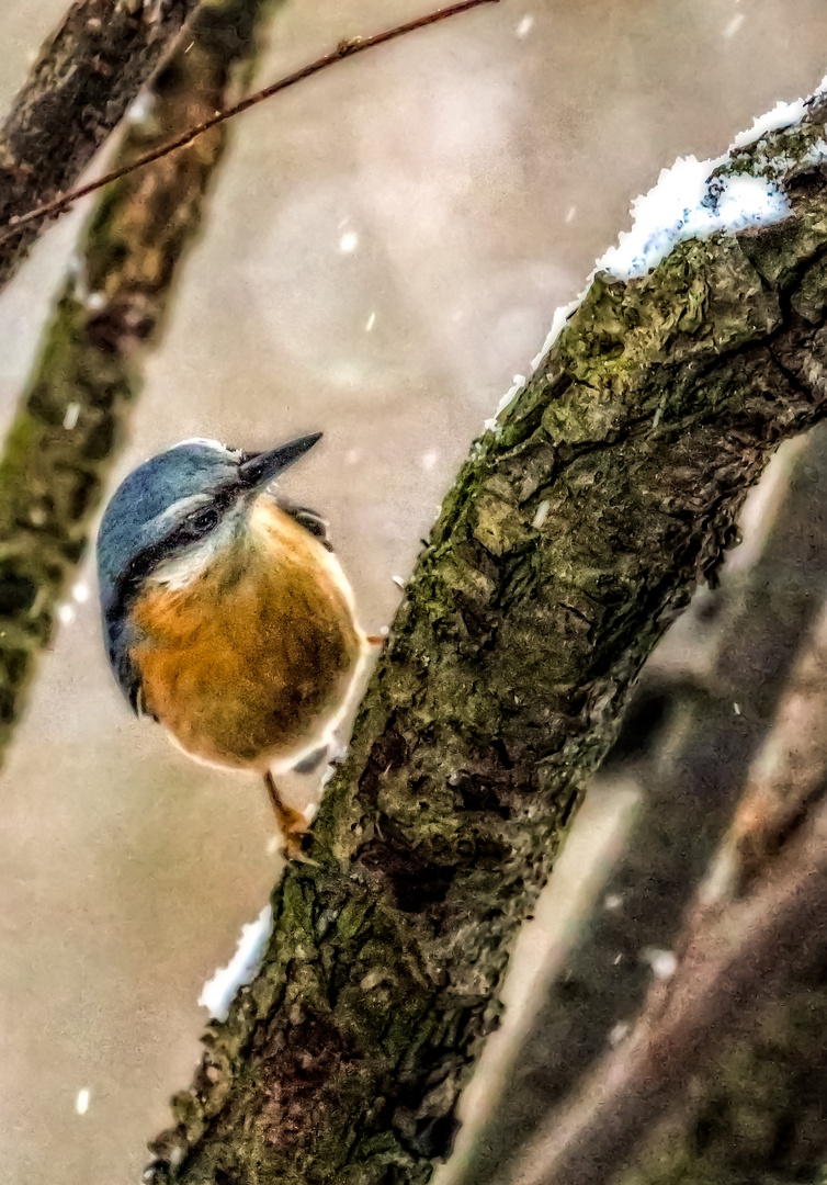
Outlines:
<svg viewBox="0 0 827 1185"><path fill-rule="evenodd" d="M271 98L282 90L287 90L288 87L293 87L295 83L301 82L303 78L309 78L314 73L319 73L320 70L326 70L327 66L334 65L336 62L341 62L342 58L352 58L354 53L361 53L363 50L373 49L376 45L384 45L386 41L392 41L397 37L404 37L405 33L412 33L417 28L424 28L427 25L435 25L440 20L445 20L448 17L455 17L457 13L467 12L469 8L476 8L482 4L498 4L499 0L462 0L461 4L451 5L449 8L440 8L436 12L429 13L427 17L418 17L416 20L410 20L405 25L398 25L396 28L389 28L384 33L376 33L373 37L355 37L351 40L340 41L339 45L332 53L326 53L325 57L318 58L307 66L302 66L301 70L295 70L293 73L287 75L284 78L280 78L278 82L270 83L269 87L264 87L262 90L256 91L255 95L249 95L246 98L241 100L233 107L224 111L216 111L207 120L203 120L200 123L194 124L180 135L174 136L166 143L159 145L153 148L152 152L146 153L137 160L132 161L129 165L122 165L118 168L114 168L111 172L105 173L103 177L96 178L88 185L82 185L77 190L72 190L71 193L62 194L55 198L52 201L47 201L44 205L38 206L36 210L28 210L24 214L15 214L13 218L8 219L7 226L0 222L0 243L8 238L9 233L13 233L8 228L17 229L19 226L27 225L32 222L38 222L44 218L53 218L57 214L63 213L69 206L77 201L79 198L85 198L90 193L95 193L101 190L104 185L110 185L113 181L118 181L122 177L135 172L137 168L145 168L155 160L160 160L162 156L168 155L171 152L175 152L178 148L184 148L186 145L192 143L192 141L205 132L210 132L212 128L217 128L220 123L225 123L236 115L241 115L243 111L249 111L251 107L257 103L263 103L265 98Z"/></svg>

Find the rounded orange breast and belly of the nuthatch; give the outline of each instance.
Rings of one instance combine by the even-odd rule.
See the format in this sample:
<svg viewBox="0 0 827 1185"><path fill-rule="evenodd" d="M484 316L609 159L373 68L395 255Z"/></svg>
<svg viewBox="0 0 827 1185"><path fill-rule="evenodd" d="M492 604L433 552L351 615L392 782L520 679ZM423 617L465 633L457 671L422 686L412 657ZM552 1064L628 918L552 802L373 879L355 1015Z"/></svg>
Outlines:
<svg viewBox="0 0 827 1185"><path fill-rule="evenodd" d="M185 588L148 582L130 656L145 707L204 761L265 768L339 712L363 647L329 552L267 495Z"/></svg>

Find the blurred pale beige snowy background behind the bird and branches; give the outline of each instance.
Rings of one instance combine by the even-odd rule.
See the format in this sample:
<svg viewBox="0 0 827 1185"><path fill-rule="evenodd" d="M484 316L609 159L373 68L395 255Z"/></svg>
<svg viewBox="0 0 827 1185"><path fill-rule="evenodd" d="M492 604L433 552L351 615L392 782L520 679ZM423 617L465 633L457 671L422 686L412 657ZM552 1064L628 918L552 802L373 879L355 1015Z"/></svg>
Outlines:
<svg viewBox="0 0 827 1185"><path fill-rule="evenodd" d="M64 7L6 6L4 111ZM425 8L287 0L256 83ZM110 488L187 436L256 448L323 430L289 492L331 519L365 627L389 624L469 442L528 372L554 308L628 228L632 199L675 156L724 152L825 71L820 0L501 0L248 113L232 126ZM2 430L88 211L51 229L0 296ZM641 762L671 755L674 788L675 768L693 766L687 736L709 744L717 726L716 752L729 737L727 760L743 769L771 720L826 591L820 451L782 450L722 589L701 592L647 668L627 749L520 940L507 1020L463 1102L444 1185L472 1164L485 1179L474 1123L513 1082L514 1037L654 793ZM778 527L782 513L791 517ZM255 779L191 763L130 716L105 666L89 558L58 616L0 790L2 1185L140 1178L145 1141L199 1056L201 986L267 902L280 860ZM296 781L295 793L315 787ZM536 1070L526 1084L520 1064L539 1114L551 1088ZM485 1172L506 1180L498 1138L486 1140Z"/></svg>

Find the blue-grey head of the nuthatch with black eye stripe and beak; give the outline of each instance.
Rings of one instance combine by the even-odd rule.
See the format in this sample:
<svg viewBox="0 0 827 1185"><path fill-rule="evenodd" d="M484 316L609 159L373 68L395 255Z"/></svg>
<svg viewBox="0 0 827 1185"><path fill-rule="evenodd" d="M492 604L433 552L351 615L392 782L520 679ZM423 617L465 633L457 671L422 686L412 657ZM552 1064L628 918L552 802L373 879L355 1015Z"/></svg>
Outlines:
<svg viewBox="0 0 827 1185"><path fill-rule="evenodd" d="M97 537L97 570L109 661L130 699L127 619L140 583L162 561L216 530L239 499L267 487L320 436L302 436L267 453L184 441L139 466L117 487Z"/></svg>

